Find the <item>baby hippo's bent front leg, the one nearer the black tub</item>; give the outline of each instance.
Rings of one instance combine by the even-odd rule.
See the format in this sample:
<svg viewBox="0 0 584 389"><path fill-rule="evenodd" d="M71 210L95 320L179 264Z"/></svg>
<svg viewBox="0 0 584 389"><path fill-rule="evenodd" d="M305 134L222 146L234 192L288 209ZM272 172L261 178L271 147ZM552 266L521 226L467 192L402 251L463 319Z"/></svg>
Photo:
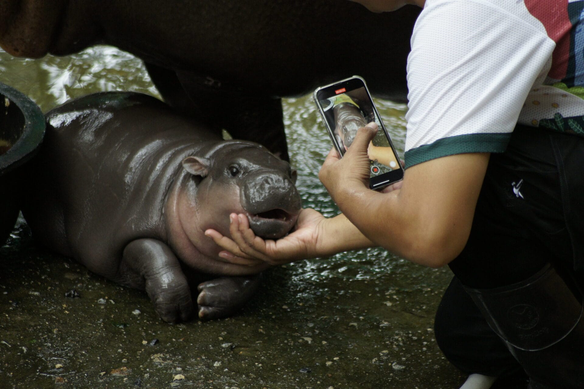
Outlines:
<svg viewBox="0 0 584 389"><path fill-rule="evenodd" d="M189 283L171 249L157 239L136 239L124 249L120 282L145 289L157 314L166 322L193 315Z"/></svg>

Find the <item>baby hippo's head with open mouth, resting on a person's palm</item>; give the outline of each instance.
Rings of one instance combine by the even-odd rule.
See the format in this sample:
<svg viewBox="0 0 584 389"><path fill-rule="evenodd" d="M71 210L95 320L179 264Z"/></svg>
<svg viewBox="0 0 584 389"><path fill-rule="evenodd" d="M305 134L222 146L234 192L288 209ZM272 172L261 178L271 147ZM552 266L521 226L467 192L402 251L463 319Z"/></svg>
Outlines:
<svg viewBox="0 0 584 389"><path fill-rule="evenodd" d="M182 162L198 179L200 228L229 235L229 214L244 213L250 227L262 238L283 237L296 223L300 195L296 171L265 147L244 141L224 141L204 157Z"/></svg>

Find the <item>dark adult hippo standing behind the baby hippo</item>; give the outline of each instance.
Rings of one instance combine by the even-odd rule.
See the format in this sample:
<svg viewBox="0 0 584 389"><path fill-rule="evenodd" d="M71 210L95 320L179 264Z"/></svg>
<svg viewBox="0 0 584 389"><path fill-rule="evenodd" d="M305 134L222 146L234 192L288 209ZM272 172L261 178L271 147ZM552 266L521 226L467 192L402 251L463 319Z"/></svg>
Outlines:
<svg viewBox="0 0 584 389"><path fill-rule="evenodd" d="M406 98L420 9L343 0L0 0L0 46L38 58L97 43L142 58L170 105L288 158L280 98L354 74Z"/></svg>

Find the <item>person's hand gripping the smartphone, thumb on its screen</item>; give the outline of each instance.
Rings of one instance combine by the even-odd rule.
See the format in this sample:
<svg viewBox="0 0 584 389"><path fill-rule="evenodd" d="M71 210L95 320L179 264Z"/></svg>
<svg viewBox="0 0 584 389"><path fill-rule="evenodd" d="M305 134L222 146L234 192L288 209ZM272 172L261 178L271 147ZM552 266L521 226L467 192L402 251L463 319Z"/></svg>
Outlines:
<svg viewBox="0 0 584 389"><path fill-rule="evenodd" d="M339 157L334 148L326 156L318 178L335 202L339 193L369 188L370 160L367 148L376 133L377 124L369 123L359 128L343 158Z"/></svg>

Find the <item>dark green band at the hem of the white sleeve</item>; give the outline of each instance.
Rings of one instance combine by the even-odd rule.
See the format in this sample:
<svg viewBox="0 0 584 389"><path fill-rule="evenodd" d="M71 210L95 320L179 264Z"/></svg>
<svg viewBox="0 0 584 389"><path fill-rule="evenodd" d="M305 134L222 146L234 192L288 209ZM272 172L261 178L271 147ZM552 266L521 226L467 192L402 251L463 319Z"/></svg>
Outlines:
<svg viewBox="0 0 584 389"><path fill-rule="evenodd" d="M405 152L405 168L447 155L467 152L503 152L512 133L464 134L442 138Z"/></svg>

